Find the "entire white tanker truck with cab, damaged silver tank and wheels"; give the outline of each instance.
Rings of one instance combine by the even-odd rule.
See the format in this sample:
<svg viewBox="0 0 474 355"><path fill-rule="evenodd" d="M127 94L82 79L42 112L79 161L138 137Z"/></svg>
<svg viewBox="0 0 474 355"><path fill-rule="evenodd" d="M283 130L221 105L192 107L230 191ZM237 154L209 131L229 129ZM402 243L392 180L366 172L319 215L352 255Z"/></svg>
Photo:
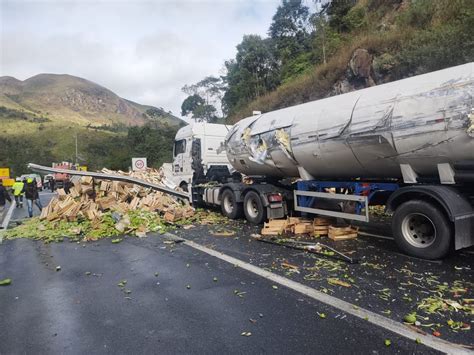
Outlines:
<svg viewBox="0 0 474 355"><path fill-rule="evenodd" d="M443 257L474 244L473 69L258 113L230 129L214 125L209 147L205 129L185 127L177 137L188 142L180 154L191 168L177 166L186 159L175 152L173 171L192 171L181 185L191 187L194 205L254 224L289 211L367 222L369 205L385 205L404 252ZM213 162L203 166L209 153Z"/></svg>

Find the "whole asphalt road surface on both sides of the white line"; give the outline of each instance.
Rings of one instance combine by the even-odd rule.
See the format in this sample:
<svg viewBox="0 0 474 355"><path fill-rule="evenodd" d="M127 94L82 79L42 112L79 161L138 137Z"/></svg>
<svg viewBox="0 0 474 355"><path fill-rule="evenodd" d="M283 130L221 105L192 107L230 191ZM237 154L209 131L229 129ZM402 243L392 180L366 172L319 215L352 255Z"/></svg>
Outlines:
<svg viewBox="0 0 474 355"><path fill-rule="evenodd" d="M42 202L50 197L43 194ZM17 209L12 220L25 216L26 209ZM235 235L213 235L222 228ZM428 263L397 254L391 241L359 238L337 245L362 257L362 265L350 266L252 241L256 232L246 223L230 222L175 234L326 290L354 307L381 314L390 309L387 317L396 321L416 307L423 289L400 290L402 282L421 281L394 270L409 270L417 279L433 273L448 284L473 279L472 254ZM159 235L128 237L120 244L4 241L0 280L13 282L0 287L0 354L435 352L284 286L274 288L272 281L189 246L169 243ZM290 273L283 262L300 272ZM327 283L328 277L345 276L352 287ZM392 290L388 301L379 298L383 288ZM405 294L413 302L404 301ZM441 332L449 341L474 343L472 332L452 333L446 327Z"/></svg>

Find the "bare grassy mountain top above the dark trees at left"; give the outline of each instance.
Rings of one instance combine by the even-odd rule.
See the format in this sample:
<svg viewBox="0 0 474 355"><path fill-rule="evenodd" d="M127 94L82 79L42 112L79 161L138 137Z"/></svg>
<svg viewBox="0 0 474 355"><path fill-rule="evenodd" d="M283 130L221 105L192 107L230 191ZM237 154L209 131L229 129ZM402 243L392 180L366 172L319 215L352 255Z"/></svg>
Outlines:
<svg viewBox="0 0 474 355"><path fill-rule="evenodd" d="M92 81L67 74L39 74L24 81L0 77L0 107L81 126L143 125L182 121L162 108L123 99Z"/></svg>

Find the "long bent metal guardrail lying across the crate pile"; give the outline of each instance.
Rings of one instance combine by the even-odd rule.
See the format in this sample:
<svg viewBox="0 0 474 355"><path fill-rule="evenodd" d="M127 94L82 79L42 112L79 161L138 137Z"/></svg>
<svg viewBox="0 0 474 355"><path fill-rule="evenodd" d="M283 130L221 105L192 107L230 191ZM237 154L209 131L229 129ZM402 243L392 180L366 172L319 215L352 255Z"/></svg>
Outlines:
<svg viewBox="0 0 474 355"><path fill-rule="evenodd" d="M76 176L90 176L93 178L97 178L100 180L113 180L113 181L123 181L129 182L132 184L140 185L143 187L149 187L154 190L164 192L169 195L176 196L183 200L189 201L189 194L186 192L176 191L165 186L153 184L151 182L147 182L144 180L136 179L130 176L124 175L112 175L112 174L104 174L104 173L94 173L90 171L79 171L79 170L69 170L69 169L58 169L58 168L50 168L48 166L38 165L30 163L28 164L28 168L36 171L36 172L46 172L46 173L58 173L58 174L68 174L68 175L76 175Z"/></svg>

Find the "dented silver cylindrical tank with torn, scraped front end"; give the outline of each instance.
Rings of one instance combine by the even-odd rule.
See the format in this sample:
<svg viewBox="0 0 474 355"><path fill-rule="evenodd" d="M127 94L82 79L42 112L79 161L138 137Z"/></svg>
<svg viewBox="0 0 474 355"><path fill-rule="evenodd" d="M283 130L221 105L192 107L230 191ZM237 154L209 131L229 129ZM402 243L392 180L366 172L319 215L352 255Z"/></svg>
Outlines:
<svg viewBox="0 0 474 355"><path fill-rule="evenodd" d="M247 117L226 137L239 172L309 179L420 177L474 161L474 63Z"/></svg>

